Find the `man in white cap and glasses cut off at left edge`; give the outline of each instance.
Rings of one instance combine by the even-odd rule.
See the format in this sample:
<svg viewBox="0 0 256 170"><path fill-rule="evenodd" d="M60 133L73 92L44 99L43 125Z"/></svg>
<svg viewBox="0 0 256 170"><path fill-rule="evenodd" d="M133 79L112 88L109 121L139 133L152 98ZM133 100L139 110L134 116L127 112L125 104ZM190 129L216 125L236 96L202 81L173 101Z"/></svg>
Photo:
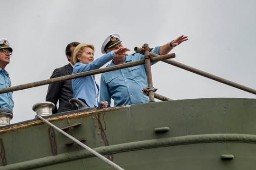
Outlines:
<svg viewBox="0 0 256 170"><path fill-rule="evenodd" d="M11 86L11 80L5 67L10 62L12 48L6 39L0 39L0 89ZM12 92L0 94L0 109L13 110Z"/></svg>

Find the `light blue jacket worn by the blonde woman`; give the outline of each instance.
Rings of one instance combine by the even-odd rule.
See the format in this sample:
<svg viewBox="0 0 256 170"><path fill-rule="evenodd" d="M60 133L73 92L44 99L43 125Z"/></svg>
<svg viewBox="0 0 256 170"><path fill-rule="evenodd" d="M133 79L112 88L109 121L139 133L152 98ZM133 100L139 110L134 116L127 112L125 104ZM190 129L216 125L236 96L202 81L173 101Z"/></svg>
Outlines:
<svg viewBox="0 0 256 170"><path fill-rule="evenodd" d="M74 65L73 74L98 69L113 59L114 56L115 52L111 51L89 64L77 62ZM94 107L95 103L98 103L99 107L101 107L101 102L97 102L99 85L95 82L93 76L72 79L72 88L74 98L85 100L89 107Z"/></svg>

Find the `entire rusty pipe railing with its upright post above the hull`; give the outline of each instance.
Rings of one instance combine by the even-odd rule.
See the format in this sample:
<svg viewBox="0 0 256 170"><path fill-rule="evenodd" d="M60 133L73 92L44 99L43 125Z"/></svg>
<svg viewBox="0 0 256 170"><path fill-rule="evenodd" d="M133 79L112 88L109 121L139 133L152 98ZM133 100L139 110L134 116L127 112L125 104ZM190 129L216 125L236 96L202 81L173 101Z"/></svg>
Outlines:
<svg viewBox="0 0 256 170"><path fill-rule="evenodd" d="M245 85L240 85L238 83L232 82L232 81L224 79L222 77L215 76L213 74L207 73L207 72L199 70L197 68L192 68L192 67L187 66L185 64L182 64L182 63L179 63L177 61L171 60L170 58L175 58L174 53L166 54L166 55L157 55L153 52L150 52L150 49L148 48L148 44L144 44L143 47L144 48L135 47L134 51L139 52L141 54L144 54L145 55L145 60L134 61L134 62L126 63L126 64L120 64L120 65L111 66L111 67L108 67L108 68L99 68L99 69L96 69L96 70L86 71L86 72L77 73L77 74L68 75L68 76L60 76L60 77L56 77L56 78L41 80L41 81L32 82L32 83L23 84L23 85L16 85L16 86L0 89L0 94L1 93L14 92L14 91L23 90L23 89L32 88L32 87L37 87L37 86L41 86L41 85L47 85L47 84L56 83L56 82L61 82L61 81L70 80L70 79L73 79L73 78L79 78L79 77L82 77L82 76L91 76L91 75L100 74L100 73L104 73L104 72L109 72L109 71L113 71L113 70L117 70L117 69L128 68L128 67L133 67L133 66L145 64L146 65L148 86L144 90L144 93L149 96L150 102L153 102L154 98L157 98L157 97L159 97L160 100L172 100L172 99L169 99L169 98L167 98L165 96L162 96L160 94L156 94L155 93L156 89L153 87L150 62L156 62L156 61L160 61L160 60L162 60L165 63L176 66L178 68L183 68L183 69L188 70L190 72L193 72L195 74L198 74L198 75L210 78L212 80L218 81L220 83L230 85L232 87L238 88L240 90L243 90L243 91L246 91L246 92L249 92L249 93L256 94L255 89L252 89L252 88L247 87Z"/></svg>

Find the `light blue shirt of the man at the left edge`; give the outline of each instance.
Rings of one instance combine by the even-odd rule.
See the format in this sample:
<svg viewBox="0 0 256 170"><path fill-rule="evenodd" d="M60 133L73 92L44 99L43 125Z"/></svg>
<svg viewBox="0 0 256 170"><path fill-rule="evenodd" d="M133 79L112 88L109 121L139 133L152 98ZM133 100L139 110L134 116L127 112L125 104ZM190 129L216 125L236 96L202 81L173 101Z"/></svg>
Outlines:
<svg viewBox="0 0 256 170"><path fill-rule="evenodd" d="M6 70L0 68L0 89L11 86L9 74ZM0 108L13 110L12 92L0 94Z"/></svg>

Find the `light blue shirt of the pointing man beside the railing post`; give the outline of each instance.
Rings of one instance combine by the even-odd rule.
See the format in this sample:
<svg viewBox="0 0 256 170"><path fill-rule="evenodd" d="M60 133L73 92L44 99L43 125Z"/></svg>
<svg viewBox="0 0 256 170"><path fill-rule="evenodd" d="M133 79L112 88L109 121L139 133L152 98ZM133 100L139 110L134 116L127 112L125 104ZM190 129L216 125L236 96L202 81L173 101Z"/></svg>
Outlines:
<svg viewBox="0 0 256 170"><path fill-rule="evenodd" d="M159 54L159 48L152 51ZM126 56L125 63L144 59L144 55L135 53ZM113 61L107 66L115 66ZM148 96L142 93L147 87L146 67L138 65L101 74L100 101L107 101L110 107L111 98L115 106L149 102Z"/></svg>

